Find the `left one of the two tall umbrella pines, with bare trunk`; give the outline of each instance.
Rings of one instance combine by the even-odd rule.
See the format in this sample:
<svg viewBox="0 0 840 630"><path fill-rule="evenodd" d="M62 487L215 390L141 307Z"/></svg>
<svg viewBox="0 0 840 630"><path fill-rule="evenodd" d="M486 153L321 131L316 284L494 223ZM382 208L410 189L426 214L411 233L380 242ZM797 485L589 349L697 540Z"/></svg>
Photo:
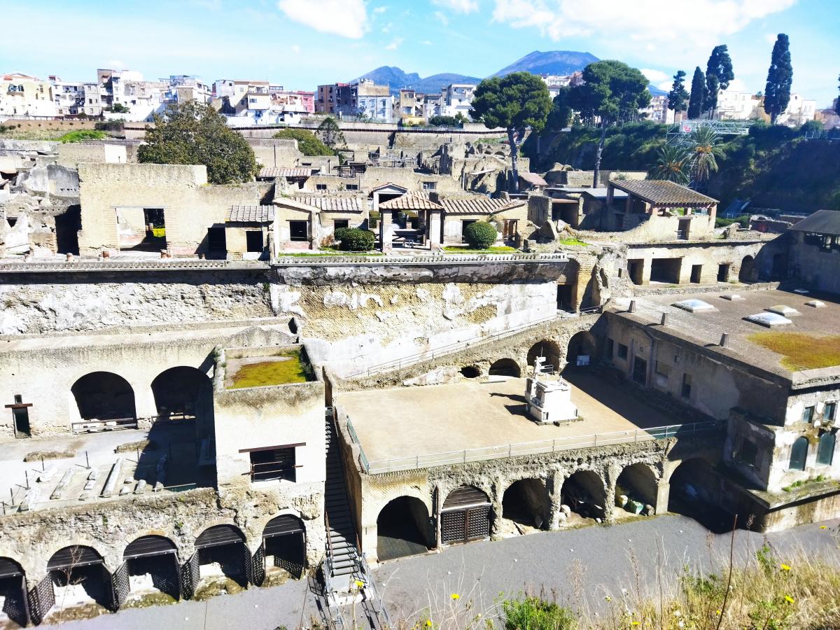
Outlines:
<svg viewBox="0 0 840 630"><path fill-rule="evenodd" d="M507 130L514 192L519 191L517 141L522 140L528 127L535 133L542 131L550 109L549 88L530 72L494 76L481 81L475 88L470 117L482 120L488 129L503 127Z"/></svg>

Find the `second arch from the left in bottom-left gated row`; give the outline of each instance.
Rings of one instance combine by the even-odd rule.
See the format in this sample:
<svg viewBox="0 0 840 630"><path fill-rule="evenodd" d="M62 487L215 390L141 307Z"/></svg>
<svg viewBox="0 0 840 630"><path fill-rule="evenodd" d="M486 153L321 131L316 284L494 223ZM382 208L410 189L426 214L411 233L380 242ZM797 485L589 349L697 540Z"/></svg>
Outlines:
<svg viewBox="0 0 840 630"><path fill-rule="evenodd" d="M111 574L102 555L92 547L71 545L59 549L47 562L47 573L54 587L55 601L95 603L108 610L116 607Z"/></svg>

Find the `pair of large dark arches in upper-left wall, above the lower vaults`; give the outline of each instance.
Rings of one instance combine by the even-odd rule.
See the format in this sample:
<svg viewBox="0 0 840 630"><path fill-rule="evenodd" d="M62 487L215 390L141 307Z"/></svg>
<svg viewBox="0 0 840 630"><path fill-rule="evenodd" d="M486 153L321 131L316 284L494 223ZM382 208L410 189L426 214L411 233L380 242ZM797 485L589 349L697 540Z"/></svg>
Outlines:
<svg viewBox="0 0 840 630"><path fill-rule="evenodd" d="M210 378L194 367L179 365L164 370L151 383L158 416L195 415L213 404ZM134 388L113 372L97 371L81 376L71 386L81 420L116 420L138 417Z"/></svg>

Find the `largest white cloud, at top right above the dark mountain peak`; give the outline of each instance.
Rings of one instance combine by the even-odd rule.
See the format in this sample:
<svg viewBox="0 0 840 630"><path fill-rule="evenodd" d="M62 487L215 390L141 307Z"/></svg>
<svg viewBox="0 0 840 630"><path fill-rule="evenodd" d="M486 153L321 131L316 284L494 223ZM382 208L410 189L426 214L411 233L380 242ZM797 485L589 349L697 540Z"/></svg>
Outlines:
<svg viewBox="0 0 840 630"><path fill-rule="evenodd" d="M493 19L517 29L535 28L543 36L600 35L639 42L656 41L707 47L737 33L753 20L792 7L797 0L496 0Z"/></svg>

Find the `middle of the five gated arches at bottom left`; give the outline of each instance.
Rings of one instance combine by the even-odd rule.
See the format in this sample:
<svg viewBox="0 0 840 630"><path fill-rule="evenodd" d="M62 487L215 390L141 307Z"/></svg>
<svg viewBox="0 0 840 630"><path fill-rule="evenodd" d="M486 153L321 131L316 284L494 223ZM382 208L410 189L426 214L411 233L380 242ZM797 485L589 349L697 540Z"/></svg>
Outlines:
<svg viewBox="0 0 840 630"><path fill-rule="evenodd" d="M176 600L181 596L178 549L165 536L134 538L123 550L129 591L160 591Z"/></svg>

